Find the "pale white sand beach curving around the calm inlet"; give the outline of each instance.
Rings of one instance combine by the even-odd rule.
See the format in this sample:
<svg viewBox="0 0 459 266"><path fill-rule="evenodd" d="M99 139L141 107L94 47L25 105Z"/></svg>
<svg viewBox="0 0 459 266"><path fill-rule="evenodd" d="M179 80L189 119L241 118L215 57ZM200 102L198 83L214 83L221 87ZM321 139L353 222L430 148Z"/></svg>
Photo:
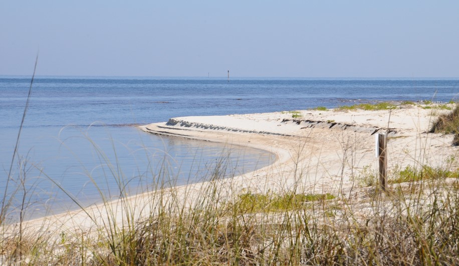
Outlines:
<svg viewBox="0 0 459 266"><path fill-rule="evenodd" d="M406 165L457 167L448 164L448 159L459 152L458 147L451 146L452 135L427 133L435 118L432 112L437 115L446 111L413 105L391 111L301 110L178 117L140 128L163 136L255 147L276 155L267 167L220 180L217 186L222 197L231 198L248 190L297 189L337 194L348 193L352 188L358 191L353 177L364 167L377 169L377 133L388 134L389 171ZM186 205L198 199L206 185L189 184L168 191L173 191ZM41 232L86 231L106 226L109 218L120 224L126 222L127 209L135 210L132 220L141 220L151 212L151 198L151 193L135 195L86 208L87 213L80 210L31 220L27 227Z"/></svg>

